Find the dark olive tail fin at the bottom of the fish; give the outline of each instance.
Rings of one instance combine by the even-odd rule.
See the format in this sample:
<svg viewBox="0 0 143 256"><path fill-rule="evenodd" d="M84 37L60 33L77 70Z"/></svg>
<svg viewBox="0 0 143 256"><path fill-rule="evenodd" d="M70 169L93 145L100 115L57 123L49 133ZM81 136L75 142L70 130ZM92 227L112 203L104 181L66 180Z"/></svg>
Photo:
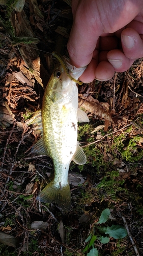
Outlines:
<svg viewBox="0 0 143 256"><path fill-rule="evenodd" d="M71 208L71 192L70 186L67 184L64 187L57 187L51 181L37 197L38 200L45 203L56 203L63 211Z"/></svg>

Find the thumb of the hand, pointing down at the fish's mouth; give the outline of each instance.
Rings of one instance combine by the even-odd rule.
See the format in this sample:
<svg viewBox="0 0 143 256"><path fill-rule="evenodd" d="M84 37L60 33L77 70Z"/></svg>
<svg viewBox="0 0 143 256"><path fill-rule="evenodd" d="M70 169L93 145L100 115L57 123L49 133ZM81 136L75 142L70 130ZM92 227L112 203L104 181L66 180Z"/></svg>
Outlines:
<svg viewBox="0 0 143 256"><path fill-rule="evenodd" d="M76 13L74 12L74 23L67 45L72 64L76 67L84 67L90 63L99 35L102 34L99 28L96 29L97 23L91 16L92 7L87 8L87 2L81 1L80 8L78 6Z"/></svg>

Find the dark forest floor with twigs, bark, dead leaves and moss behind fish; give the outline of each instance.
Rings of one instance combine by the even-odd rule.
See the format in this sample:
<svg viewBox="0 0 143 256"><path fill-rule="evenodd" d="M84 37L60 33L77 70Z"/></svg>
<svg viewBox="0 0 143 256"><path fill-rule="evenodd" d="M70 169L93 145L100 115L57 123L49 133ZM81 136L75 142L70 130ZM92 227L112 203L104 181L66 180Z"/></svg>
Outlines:
<svg viewBox="0 0 143 256"><path fill-rule="evenodd" d="M71 210L36 200L53 165L32 155L40 134L28 120L41 109L52 51L68 56L72 20L70 1L0 1L0 254L141 256L142 59L107 82L78 86L90 123L78 126L87 163L71 163ZM97 223L106 208L109 219ZM100 227L108 225L124 227L127 236L100 242ZM97 238L84 250L90 236Z"/></svg>

